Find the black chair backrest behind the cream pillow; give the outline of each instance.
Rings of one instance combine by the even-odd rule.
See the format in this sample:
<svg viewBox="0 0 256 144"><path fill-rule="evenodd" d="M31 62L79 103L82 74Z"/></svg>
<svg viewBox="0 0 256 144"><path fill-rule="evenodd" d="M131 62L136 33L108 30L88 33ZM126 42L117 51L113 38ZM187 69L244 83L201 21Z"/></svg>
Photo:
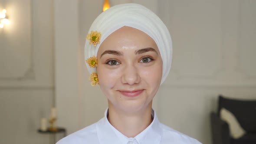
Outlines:
<svg viewBox="0 0 256 144"><path fill-rule="evenodd" d="M238 100L219 95L219 116L221 108L232 112L245 131L256 132L256 100Z"/></svg>

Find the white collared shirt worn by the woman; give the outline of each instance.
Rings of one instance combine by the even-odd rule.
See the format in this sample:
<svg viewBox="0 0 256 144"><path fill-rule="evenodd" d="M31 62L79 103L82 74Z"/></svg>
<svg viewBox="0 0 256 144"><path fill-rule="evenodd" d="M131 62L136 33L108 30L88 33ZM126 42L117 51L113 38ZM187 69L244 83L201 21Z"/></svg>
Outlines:
<svg viewBox="0 0 256 144"><path fill-rule="evenodd" d="M135 137L126 137L108 121L108 109L105 117L98 122L62 138L56 144L201 144L159 122L156 112L151 124Z"/></svg>

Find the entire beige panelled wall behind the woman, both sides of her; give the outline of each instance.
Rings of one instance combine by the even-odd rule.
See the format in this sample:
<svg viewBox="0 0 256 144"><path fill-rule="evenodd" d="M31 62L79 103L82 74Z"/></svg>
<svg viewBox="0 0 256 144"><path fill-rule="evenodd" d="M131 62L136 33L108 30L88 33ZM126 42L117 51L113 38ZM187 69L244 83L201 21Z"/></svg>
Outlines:
<svg viewBox="0 0 256 144"><path fill-rule="evenodd" d="M104 116L107 99L91 86L84 62L85 39L103 3L0 0L9 20L0 28L0 144L52 144L52 134L38 132L52 107L67 134ZM162 123L212 144L218 95L256 99L256 0L109 3L144 5L171 33L171 72L153 104Z"/></svg>

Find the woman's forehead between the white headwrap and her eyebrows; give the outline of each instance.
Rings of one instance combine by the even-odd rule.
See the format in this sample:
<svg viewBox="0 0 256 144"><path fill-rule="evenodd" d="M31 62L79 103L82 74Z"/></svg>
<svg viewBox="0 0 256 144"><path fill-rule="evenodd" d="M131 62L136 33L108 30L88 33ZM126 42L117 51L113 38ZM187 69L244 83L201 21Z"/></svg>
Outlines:
<svg viewBox="0 0 256 144"><path fill-rule="evenodd" d="M100 45L98 51L103 52L106 49L118 49L125 47L146 48L152 47L158 50L158 46L148 34L139 29L129 26L123 26L111 33Z"/></svg>

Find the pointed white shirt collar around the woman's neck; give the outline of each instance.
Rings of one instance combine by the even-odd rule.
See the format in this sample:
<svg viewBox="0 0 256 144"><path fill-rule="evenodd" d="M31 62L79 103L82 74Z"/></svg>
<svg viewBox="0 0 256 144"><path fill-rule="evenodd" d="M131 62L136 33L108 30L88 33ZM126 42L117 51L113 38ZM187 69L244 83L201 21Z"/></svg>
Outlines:
<svg viewBox="0 0 256 144"><path fill-rule="evenodd" d="M153 121L140 134L133 137L126 137L124 134L114 128L108 121L108 108L105 111L105 117L96 124L96 131L100 144L127 144L128 141L136 140L139 144L160 144L162 131L156 112L152 109L151 116Z"/></svg>

